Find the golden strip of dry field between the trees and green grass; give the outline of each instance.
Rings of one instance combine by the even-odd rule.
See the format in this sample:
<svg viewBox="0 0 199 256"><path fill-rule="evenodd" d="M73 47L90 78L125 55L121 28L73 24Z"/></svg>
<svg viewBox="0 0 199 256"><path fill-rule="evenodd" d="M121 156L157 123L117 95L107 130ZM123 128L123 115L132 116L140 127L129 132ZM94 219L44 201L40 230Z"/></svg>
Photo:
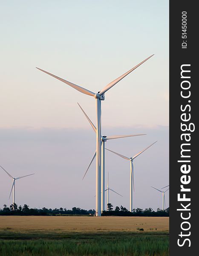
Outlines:
<svg viewBox="0 0 199 256"><path fill-rule="evenodd" d="M113 217L89 216L0 216L0 230L75 232L96 231L168 231L168 217Z"/></svg>

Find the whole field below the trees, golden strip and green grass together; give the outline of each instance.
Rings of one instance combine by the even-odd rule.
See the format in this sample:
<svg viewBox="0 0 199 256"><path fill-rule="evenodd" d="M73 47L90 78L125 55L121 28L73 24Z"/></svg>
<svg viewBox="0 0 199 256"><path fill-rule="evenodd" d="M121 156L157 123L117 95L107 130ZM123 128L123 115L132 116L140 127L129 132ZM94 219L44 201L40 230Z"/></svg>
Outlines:
<svg viewBox="0 0 199 256"><path fill-rule="evenodd" d="M0 255L167 256L168 230L167 217L0 216Z"/></svg>

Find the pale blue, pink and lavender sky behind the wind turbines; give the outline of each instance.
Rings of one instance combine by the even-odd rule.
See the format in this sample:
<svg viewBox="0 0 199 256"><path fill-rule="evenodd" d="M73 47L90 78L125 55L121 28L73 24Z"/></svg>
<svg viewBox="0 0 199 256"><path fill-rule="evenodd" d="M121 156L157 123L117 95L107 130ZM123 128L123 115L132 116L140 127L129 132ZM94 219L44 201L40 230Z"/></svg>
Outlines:
<svg viewBox="0 0 199 256"><path fill-rule="evenodd" d="M16 203L30 207L95 208L95 101L42 72L40 67L98 92L155 54L105 94L102 134L146 136L107 146L131 156L158 140L135 161L134 207L161 207L169 181L168 1L4 1L0 23L0 165L16 183ZM129 208L129 163L106 154L114 205ZM26 180L25 180L26 179ZM0 172L0 207L12 180ZM107 179L106 179L107 183ZM166 204L168 206L168 195Z"/></svg>

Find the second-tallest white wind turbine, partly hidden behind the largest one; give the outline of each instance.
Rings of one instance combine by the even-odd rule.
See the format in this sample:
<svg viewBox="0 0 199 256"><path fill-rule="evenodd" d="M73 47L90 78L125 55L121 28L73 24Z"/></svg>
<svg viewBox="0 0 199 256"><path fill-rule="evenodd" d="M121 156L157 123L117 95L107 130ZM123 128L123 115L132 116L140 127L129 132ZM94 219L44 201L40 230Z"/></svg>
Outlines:
<svg viewBox="0 0 199 256"><path fill-rule="evenodd" d="M78 105L79 105L79 103L78 103ZM80 105L79 105L79 107L81 108ZM87 114L84 112L83 108L81 108L81 111L84 113L84 115L86 116L87 120L89 121L90 125L92 126L93 130L96 133L95 125L92 123L92 121L89 119ZM101 212L103 212L105 210L105 191L104 191L104 189L105 189L105 142L107 140L141 136L141 135L146 135L146 134L130 134L130 135L114 135L114 136L103 135L103 136L101 136ZM87 174L87 171L88 171L92 161L94 160L95 156L96 156L96 151L92 157L91 162L89 163L89 166L84 174L84 177ZM83 179L84 179L84 177L83 177Z"/></svg>

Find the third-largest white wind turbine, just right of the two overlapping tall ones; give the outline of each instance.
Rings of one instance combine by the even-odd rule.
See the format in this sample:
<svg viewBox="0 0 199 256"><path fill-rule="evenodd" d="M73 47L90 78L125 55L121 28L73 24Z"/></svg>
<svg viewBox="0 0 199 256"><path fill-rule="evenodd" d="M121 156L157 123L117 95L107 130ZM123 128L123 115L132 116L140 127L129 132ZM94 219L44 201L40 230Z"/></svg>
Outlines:
<svg viewBox="0 0 199 256"><path fill-rule="evenodd" d="M157 141L156 141L157 142ZM130 212L133 212L133 190L134 190L134 174L133 174L133 160L138 157L141 153L143 153L145 150L147 150L148 148L150 148L153 144L155 144L156 142L152 143L151 145L149 145L147 148L144 148L142 151L138 152L138 154L135 154L133 157L125 157L122 154L118 154L108 148L106 148L108 151L118 155L119 157L124 158L125 160L129 160L130 161Z"/></svg>

